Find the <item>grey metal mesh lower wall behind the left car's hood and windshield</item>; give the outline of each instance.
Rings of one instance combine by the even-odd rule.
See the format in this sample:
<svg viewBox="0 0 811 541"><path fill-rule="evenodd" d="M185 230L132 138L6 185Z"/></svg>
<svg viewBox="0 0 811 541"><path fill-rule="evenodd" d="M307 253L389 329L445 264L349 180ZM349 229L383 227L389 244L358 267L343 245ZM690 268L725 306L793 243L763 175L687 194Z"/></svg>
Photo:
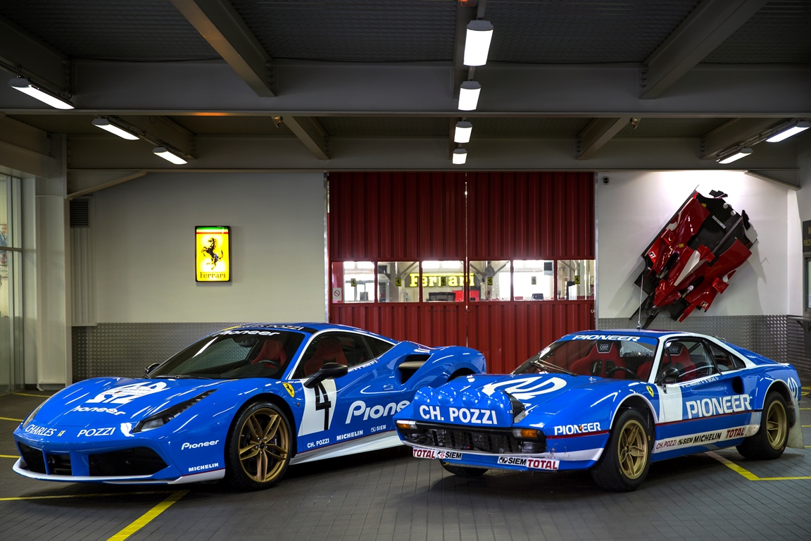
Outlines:
<svg viewBox="0 0 811 541"><path fill-rule="evenodd" d="M191 342L232 323L100 323L73 328L73 379L138 377Z"/></svg>

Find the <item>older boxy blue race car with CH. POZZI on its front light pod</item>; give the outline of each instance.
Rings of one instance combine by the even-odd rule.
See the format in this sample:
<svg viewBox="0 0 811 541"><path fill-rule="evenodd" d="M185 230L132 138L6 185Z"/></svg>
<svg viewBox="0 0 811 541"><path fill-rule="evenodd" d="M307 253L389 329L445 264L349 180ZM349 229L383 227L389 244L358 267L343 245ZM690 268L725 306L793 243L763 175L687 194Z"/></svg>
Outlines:
<svg viewBox="0 0 811 541"><path fill-rule="evenodd" d="M802 448L799 401L790 364L713 337L586 331L508 376L419 390L395 422L414 457L454 474L590 469L600 487L628 491L666 458L736 446L766 459Z"/></svg>

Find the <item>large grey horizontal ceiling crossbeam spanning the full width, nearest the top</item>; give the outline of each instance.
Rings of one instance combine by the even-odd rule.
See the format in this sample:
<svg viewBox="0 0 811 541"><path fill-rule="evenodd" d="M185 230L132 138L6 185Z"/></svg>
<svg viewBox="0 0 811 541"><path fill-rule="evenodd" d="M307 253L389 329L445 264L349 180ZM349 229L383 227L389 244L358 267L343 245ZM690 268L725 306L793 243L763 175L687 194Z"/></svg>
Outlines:
<svg viewBox="0 0 811 541"><path fill-rule="evenodd" d="M277 62L290 92L272 106L222 61L74 64L81 87L71 98L77 109L65 114L460 115L450 62ZM811 116L811 67L701 65L659 100L641 99L637 79L638 66L487 62L476 72L486 91L465 116ZM31 101L0 84L0 111L56 113Z"/></svg>

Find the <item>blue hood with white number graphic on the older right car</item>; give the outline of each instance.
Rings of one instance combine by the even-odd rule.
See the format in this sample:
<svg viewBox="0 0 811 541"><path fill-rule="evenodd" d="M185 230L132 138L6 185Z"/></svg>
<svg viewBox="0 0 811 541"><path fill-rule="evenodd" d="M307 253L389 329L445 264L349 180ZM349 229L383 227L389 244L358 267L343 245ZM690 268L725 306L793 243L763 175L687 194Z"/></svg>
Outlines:
<svg viewBox="0 0 811 541"><path fill-rule="evenodd" d="M446 421L451 419L451 414L449 411L446 414L445 408L476 408L494 411L496 423L492 424L499 427L509 427L519 421L522 425L531 424L567 408L590 408L594 406L592 402L601 397L616 398L616 391L630 384L642 382L565 374L468 376L453 380L440 389L419 390L414 397L414 417L431 420L428 416L431 406L440 406L434 420L442 416ZM421 411L420 406L427 408ZM453 421L464 422L464 419L454 415Z"/></svg>

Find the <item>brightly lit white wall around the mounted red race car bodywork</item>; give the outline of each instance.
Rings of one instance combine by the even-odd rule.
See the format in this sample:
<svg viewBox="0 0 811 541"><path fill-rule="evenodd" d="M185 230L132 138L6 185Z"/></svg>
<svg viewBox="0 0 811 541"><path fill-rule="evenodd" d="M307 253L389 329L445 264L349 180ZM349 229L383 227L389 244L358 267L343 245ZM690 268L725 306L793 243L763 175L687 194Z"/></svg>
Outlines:
<svg viewBox="0 0 811 541"><path fill-rule="evenodd" d="M603 184L603 177L611 182ZM727 192L732 208L749 214L758 240L710 311L689 317L787 313L787 187L736 171L611 172L598 178L599 318L629 317L636 310L640 254L696 187L703 195Z"/></svg>

